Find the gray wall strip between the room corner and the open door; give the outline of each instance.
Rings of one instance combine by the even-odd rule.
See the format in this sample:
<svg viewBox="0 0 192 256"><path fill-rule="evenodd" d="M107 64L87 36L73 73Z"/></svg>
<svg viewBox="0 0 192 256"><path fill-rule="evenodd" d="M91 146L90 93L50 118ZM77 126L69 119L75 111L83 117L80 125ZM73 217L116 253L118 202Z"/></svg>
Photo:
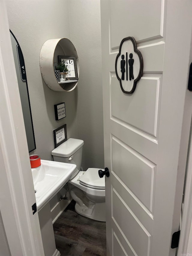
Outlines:
<svg viewBox="0 0 192 256"><path fill-rule="evenodd" d="M69 1L69 19L80 66L77 128L85 143L82 167L104 168L100 0Z"/></svg>

